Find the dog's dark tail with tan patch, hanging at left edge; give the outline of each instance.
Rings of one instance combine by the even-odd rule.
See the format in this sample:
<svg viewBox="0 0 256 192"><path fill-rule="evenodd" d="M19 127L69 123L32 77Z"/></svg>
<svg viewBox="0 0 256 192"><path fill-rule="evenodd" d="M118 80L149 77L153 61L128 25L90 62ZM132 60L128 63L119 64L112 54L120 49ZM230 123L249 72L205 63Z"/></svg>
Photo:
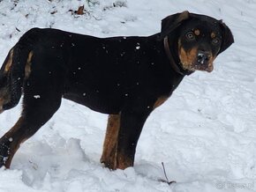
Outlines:
<svg viewBox="0 0 256 192"><path fill-rule="evenodd" d="M0 113L19 103L30 53L29 48L18 42L5 58L0 70Z"/></svg>

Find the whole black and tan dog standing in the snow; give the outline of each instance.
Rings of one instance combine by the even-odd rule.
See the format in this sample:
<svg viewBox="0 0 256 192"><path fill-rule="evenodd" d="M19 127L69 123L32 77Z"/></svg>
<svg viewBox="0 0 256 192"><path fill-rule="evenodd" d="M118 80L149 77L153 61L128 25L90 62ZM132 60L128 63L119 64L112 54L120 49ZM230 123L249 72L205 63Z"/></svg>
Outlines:
<svg viewBox="0 0 256 192"><path fill-rule="evenodd" d="M62 98L109 114L102 163L133 166L147 116L186 75L212 71L233 36L222 21L188 11L162 20L148 37L111 37L34 28L11 48L0 71L0 111L15 107L19 121L0 139L0 165L10 167L19 144L48 122Z"/></svg>

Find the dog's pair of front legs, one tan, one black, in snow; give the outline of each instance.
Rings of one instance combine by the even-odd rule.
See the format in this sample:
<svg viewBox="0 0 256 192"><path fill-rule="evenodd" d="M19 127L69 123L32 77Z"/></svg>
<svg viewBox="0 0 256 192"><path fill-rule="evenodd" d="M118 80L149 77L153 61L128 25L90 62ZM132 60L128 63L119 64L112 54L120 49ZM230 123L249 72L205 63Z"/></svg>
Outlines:
<svg viewBox="0 0 256 192"><path fill-rule="evenodd" d="M101 162L111 170L133 166L136 145L150 112L109 114Z"/></svg>

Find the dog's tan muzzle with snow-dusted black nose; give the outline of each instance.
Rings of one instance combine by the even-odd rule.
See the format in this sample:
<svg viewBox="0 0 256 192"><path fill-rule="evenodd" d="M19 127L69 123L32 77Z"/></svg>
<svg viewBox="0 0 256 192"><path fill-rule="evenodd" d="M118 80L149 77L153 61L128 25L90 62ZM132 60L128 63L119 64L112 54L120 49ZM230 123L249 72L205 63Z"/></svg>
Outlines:
<svg viewBox="0 0 256 192"><path fill-rule="evenodd" d="M201 51L198 48L192 48L188 52L180 48L179 59L184 70L207 72L214 70L215 57L210 52Z"/></svg>

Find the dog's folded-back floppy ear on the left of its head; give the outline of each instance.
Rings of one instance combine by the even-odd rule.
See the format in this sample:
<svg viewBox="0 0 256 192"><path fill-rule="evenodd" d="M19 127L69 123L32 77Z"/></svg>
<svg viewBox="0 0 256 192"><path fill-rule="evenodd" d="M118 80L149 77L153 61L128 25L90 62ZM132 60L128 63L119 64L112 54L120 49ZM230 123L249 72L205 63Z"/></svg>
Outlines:
<svg viewBox="0 0 256 192"><path fill-rule="evenodd" d="M189 11L183 11L174 15L169 15L166 18L162 19L161 27L161 36L160 39L163 39L166 35L172 32L177 26L180 26L182 21L189 18Z"/></svg>

